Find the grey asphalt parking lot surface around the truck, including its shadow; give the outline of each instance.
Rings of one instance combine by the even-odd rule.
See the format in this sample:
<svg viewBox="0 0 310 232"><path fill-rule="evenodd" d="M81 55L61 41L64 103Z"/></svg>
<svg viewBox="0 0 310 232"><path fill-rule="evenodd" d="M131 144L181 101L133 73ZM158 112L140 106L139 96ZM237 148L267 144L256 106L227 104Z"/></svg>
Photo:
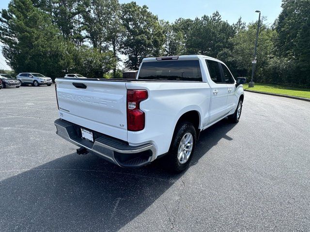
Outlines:
<svg viewBox="0 0 310 232"><path fill-rule="evenodd" d="M202 132L190 168L77 155L55 89L0 90L0 231L310 231L310 102L245 93Z"/></svg>

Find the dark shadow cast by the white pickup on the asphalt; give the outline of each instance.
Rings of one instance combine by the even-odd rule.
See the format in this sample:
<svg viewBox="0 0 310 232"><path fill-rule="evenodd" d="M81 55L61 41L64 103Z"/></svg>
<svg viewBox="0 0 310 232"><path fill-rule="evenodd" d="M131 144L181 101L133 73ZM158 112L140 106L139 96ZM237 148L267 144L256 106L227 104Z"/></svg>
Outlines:
<svg viewBox="0 0 310 232"><path fill-rule="evenodd" d="M192 165L233 128L222 120L202 132ZM143 213L183 174L160 160L124 169L72 153L0 182L1 231L117 231Z"/></svg>

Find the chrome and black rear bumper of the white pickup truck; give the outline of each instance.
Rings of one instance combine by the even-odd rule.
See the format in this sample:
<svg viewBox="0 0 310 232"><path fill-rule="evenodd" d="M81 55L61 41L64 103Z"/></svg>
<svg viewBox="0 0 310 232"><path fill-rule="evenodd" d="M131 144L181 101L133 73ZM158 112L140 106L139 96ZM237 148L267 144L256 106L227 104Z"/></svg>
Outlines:
<svg viewBox="0 0 310 232"><path fill-rule="evenodd" d="M79 147L85 147L88 151L119 166L140 167L155 160L156 150L153 144L130 146L124 141L104 134L91 142L78 135L77 128L81 127L76 124L62 119L57 119L54 124L56 133L63 139Z"/></svg>

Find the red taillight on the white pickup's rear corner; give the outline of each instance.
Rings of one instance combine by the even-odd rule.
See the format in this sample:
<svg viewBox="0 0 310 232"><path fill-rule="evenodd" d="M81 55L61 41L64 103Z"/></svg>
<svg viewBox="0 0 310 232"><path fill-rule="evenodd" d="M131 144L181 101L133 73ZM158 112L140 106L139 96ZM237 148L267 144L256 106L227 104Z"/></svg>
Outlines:
<svg viewBox="0 0 310 232"><path fill-rule="evenodd" d="M140 102L148 98L147 90L127 90L127 130L141 131L144 129L145 114L140 110Z"/></svg>

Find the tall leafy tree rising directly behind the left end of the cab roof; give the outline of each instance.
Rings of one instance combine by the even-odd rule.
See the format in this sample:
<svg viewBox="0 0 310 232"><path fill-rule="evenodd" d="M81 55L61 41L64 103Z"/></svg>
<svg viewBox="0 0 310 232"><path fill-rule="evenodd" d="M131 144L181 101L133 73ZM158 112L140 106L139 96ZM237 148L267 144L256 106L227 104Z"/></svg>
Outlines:
<svg viewBox="0 0 310 232"><path fill-rule="evenodd" d="M121 19L125 28L121 50L128 56L125 62L128 69L137 70L143 58L161 55L164 29L146 5L139 6L136 2L123 4Z"/></svg>

